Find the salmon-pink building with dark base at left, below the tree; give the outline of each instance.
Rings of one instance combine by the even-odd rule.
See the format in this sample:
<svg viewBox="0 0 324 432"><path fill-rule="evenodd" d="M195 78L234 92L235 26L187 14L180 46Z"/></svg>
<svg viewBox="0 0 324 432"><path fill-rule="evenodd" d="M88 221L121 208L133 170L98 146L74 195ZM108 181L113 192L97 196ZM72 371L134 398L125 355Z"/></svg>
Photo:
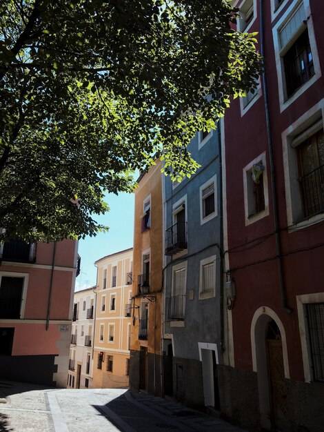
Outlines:
<svg viewBox="0 0 324 432"><path fill-rule="evenodd" d="M77 242L0 246L0 377L65 387Z"/></svg>

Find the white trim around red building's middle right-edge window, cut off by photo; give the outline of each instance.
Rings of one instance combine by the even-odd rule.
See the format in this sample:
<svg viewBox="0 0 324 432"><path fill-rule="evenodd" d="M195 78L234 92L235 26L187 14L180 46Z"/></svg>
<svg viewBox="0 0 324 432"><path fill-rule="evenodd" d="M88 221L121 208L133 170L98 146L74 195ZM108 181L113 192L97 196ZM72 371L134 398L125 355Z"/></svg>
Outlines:
<svg viewBox="0 0 324 432"><path fill-rule="evenodd" d="M307 129L314 121L323 119L324 127L324 98L318 101L310 110L304 112L294 123L290 124L287 129L281 133L283 145L283 170L285 176L285 202L287 208L287 226L293 226L290 232L296 229L302 229L317 222L321 222L324 213L310 217L310 219L298 222L302 217L301 195L298 184L298 163L296 149L292 148L291 142L296 135ZM296 222L297 221L297 222Z"/></svg>

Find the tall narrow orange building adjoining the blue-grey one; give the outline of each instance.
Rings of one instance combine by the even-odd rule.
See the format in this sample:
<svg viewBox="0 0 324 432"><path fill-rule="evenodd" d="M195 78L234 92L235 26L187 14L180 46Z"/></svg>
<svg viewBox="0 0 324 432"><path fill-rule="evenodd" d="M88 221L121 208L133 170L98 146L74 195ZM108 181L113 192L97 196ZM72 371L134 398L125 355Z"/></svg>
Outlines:
<svg viewBox="0 0 324 432"><path fill-rule="evenodd" d="M130 386L161 395L163 206L161 161L135 190Z"/></svg>

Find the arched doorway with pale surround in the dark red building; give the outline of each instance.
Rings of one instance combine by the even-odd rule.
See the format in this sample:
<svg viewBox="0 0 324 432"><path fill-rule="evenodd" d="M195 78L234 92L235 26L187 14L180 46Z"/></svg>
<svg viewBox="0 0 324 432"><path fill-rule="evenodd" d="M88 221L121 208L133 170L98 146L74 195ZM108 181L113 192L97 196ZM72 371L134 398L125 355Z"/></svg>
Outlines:
<svg viewBox="0 0 324 432"><path fill-rule="evenodd" d="M289 366L285 329L272 309L259 308L251 324L253 370L257 373L261 427L287 430Z"/></svg>

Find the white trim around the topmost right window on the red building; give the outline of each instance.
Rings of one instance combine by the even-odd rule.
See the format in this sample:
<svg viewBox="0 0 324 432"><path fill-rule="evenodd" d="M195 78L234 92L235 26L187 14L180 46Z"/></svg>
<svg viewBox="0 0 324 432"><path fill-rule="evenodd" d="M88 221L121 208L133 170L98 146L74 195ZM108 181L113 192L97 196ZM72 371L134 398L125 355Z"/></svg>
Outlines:
<svg viewBox="0 0 324 432"><path fill-rule="evenodd" d="M296 90L296 92L294 92L292 96L287 98L286 90L285 90L285 70L283 64L283 57L282 55L279 54L279 52L283 52L282 48L279 46L279 32L281 28L285 26L285 23L287 23L287 21L290 20L290 17L292 17L292 14L294 14L295 10L297 10L298 6L300 6L301 3L303 3L303 8L305 9L305 17L307 17L307 29L308 29L308 36L310 39L310 47L312 50L312 57L314 63L314 75L307 82L305 82L305 84L303 84L300 88L298 88L298 90ZM305 92L305 90L307 90L307 88L310 88L310 86L312 86L312 84L314 84L314 82L316 82L318 78L321 77L321 66L320 66L318 51L316 47L314 25L312 21L312 13L310 10L310 0L292 2L292 4L289 6L289 8L287 8L283 16L279 19L279 21L272 29L272 35L274 41L276 72L278 77L280 112L283 112L294 101L296 101L296 99L298 99L299 96L303 95L303 93ZM298 35L300 35L300 33ZM296 37L298 37L298 35L296 35Z"/></svg>

